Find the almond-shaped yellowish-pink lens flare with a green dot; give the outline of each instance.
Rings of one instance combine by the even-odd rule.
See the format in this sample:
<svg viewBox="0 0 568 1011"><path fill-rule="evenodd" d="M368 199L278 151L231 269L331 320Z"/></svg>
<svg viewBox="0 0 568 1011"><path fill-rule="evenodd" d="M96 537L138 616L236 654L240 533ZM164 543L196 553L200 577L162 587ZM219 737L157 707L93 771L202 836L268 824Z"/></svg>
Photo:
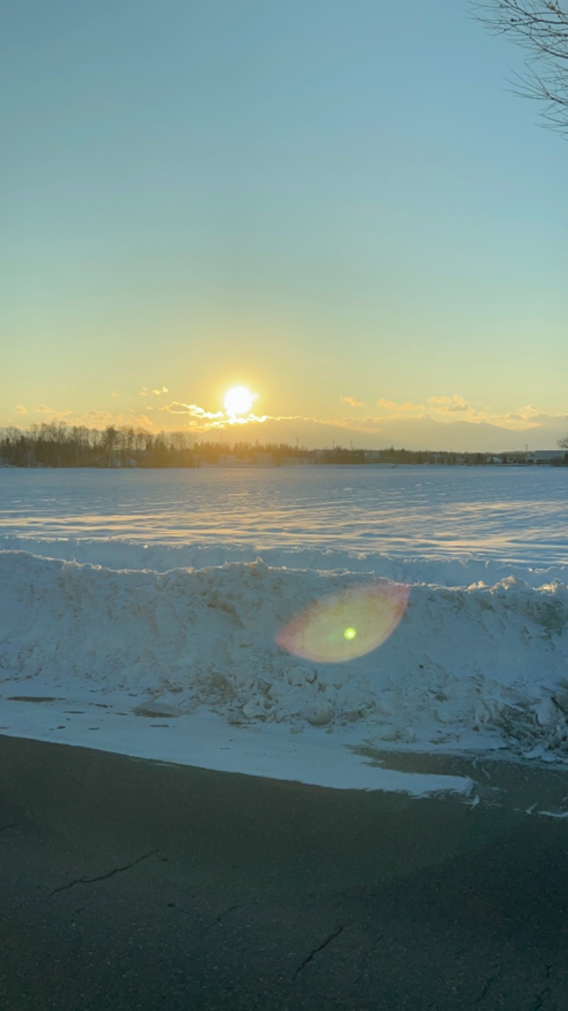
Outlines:
<svg viewBox="0 0 568 1011"><path fill-rule="evenodd" d="M370 653L405 614L409 586L378 579L316 601L285 625L278 646L318 663L342 663Z"/></svg>

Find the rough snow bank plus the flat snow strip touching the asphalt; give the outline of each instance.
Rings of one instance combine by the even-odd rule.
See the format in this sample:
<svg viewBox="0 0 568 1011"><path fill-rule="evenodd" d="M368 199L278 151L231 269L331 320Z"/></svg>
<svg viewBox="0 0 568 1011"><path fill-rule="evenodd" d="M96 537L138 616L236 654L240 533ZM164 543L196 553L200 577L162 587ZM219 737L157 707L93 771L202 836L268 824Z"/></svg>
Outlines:
<svg viewBox="0 0 568 1011"><path fill-rule="evenodd" d="M452 777L405 785L353 752L499 749L564 763L567 574L325 542L5 535L0 732L419 794ZM408 587L378 648L338 663L278 645L298 616L309 623L315 606L360 600L377 580Z"/></svg>

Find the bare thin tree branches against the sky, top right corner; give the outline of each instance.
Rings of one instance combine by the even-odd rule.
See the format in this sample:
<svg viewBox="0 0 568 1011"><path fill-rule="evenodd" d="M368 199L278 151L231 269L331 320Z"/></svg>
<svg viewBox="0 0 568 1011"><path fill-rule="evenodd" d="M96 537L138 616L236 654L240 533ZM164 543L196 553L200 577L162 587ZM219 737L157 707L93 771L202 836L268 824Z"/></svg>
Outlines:
<svg viewBox="0 0 568 1011"><path fill-rule="evenodd" d="M529 52L516 94L543 103L547 125L568 136L568 6L558 0L470 0L474 15L495 35Z"/></svg>

